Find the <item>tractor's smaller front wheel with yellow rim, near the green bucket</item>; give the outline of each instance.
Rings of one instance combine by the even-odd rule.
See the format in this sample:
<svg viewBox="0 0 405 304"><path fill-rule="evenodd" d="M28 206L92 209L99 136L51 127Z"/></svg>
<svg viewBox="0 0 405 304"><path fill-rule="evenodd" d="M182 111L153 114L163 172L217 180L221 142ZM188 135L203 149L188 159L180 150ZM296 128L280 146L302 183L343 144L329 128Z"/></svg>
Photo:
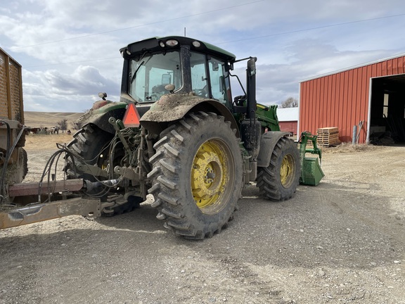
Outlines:
<svg viewBox="0 0 405 304"><path fill-rule="evenodd" d="M285 201L295 194L300 181L300 153L293 140L281 137L271 153L269 167L259 167L257 186L271 201Z"/></svg>

